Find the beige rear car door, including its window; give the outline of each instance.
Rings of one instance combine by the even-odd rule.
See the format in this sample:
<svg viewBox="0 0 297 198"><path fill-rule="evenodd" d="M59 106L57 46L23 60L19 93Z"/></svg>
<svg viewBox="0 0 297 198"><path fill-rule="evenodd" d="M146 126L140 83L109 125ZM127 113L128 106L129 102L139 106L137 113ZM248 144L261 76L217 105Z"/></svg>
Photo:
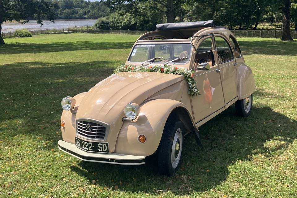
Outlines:
<svg viewBox="0 0 297 198"><path fill-rule="evenodd" d="M233 50L225 37L215 35L215 42L225 104L227 104L238 96L236 62Z"/></svg>

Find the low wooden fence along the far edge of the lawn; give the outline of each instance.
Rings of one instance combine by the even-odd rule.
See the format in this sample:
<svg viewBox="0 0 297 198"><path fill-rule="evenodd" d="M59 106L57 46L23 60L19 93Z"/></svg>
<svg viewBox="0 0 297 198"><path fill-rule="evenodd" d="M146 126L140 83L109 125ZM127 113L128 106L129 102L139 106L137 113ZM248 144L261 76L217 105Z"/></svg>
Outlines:
<svg viewBox="0 0 297 198"><path fill-rule="evenodd" d="M139 30L103 30L97 29L95 26L68 26L68 28L63 29L45 29L45 30L29 30L32 35L39 34L59 34L59 33L72 33L72 32L82 32L82 33L102 33L102 34L134 34L142 35L149 31L139 31ZM230 30L233 32L235 37L262 37L262 38L281 38L282 30ZM15 32L2 32L2 38L12 38L15 37ZM292 38L297 39L297 31L291 30Z"/></svg>

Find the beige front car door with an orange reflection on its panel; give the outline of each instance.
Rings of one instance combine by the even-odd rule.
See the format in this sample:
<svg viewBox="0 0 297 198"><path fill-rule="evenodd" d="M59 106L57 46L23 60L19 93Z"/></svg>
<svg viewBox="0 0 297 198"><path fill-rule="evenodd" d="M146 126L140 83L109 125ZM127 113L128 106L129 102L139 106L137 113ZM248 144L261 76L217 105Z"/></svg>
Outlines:
<svg viewBox="0 0 297 198"><path fill-rule="evenodd" d="M192 97L195 122L203 120L210 114L224 107L224 97L218 64L214 56L213 37L205 37L197 47L193 67L209 62L210 70L196 70L194 78L201 95Z"/></svg>

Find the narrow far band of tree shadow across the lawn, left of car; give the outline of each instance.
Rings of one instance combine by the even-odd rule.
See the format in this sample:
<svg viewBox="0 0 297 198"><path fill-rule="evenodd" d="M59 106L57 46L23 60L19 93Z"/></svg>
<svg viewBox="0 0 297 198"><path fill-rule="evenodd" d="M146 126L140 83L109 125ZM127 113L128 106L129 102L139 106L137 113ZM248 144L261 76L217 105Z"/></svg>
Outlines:
<svg viewBox="0 0 297 198"><path fill-rule="evenodd" d="M76 50L131 49L134 42L52 42L52 43L7 43L0 47L0 54L63 52Z"/></svg>

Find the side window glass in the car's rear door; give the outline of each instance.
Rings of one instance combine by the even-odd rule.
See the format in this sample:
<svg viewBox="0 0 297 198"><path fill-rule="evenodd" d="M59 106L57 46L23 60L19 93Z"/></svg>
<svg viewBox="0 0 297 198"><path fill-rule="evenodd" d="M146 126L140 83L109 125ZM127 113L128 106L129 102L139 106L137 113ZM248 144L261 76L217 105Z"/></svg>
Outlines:
<svg viewBox="0 0 297 198"><path fill-rule="evenodd" d="M216 46L217 46L217 56L219 58L219 63L222 64L224 62L233 60L233 52L228 44L228 42L222 37L215 37Z"/></svg>

